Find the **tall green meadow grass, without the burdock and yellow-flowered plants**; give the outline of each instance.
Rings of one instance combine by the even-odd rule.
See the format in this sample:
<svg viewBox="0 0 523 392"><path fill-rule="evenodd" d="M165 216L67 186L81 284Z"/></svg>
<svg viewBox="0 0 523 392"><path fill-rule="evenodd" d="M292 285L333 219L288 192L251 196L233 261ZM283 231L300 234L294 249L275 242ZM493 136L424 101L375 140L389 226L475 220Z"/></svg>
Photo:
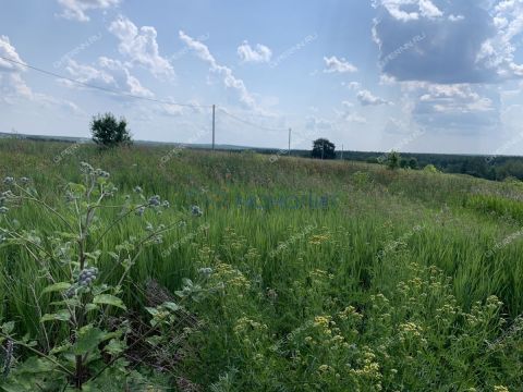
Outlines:
<svg viewBox="0 0 523 392"><path fill-rule="evenodd" d="M370 344L370 336L380 333L378 323L382 322L378 314L373 310L366 313L377 301L370 299L370 296L382 293L390 302L396 301L392 305L398 309L408 306L403 303L404 298L400 298L398 285L406 281L412 284L416 277L430 283L430 279L436 278L430 278L425 269L431 266L442 271L442 278L437 279L445 282L445 295L455 298L455 306L462 309L460 311L476 311L474 307L477 303L485 304L491 295L502 303L499 315L509 324L523 311L523 243L516 238L507 246L496 248L497 243L519 230L523 207L518 201L501 200L500 196L487 196L499 194L500 189L512 196L518 195L520 191L516 185L501 186L460 175L389 171L379 166L355 162L281 158L270 163L268 157L238 152L184 150L159 167L161 157L168 150L145 147L100 154L95 147L85 145L54 163L53 157L66 147L60 143L0 140L0 177L29 176L46 200L50 205L58 205L63 196L63 186L78 176L78 163L88 161L94 167L110 171L112 181L124 194L131 193L136 185L144 188L147 195L161 194L171 204L171 208L163 212L162 220L174 221L181 215L186 217L192 205L198 205L204 210L202 217L185 219L185 224L169 233L159 248L148 249L139 257L132 275L133 284L125 287L126 297L136 309L144 302L137 294L136 285L143 285L150 278L174 292L182 285L182 278L195 278L198 268L210 266L216 269L228 265L248 282L248 289L240 287L238 291L232 284L231 293L239 296L236 298L209 299L194 308L198 317L207 320L207 331L194 338L193 344L198 353L187 355L183 368L203 385L214 383L216 388L226 390L223 385L230 381L235 388L242 385L238 390L262 385L268 390L276 390L277 385L285 385L290 390L313 390L309 384L307 388L296 384L300 379L299 367L292 368L285 359L285 355L295 355L296 350L303 352L304 347L287 347L287 354L281 358L269 355L257 345L273 344L301 326L308 326L307 320L318 315L335 315L348 305L366 315L362 321L365 327L360 324L357 317L354 319L357 326L351 328L364 330L366 336L362 342L354 338L354 342ZM236 203L239 198L244 201L264 195L278 198L311 194L318 198L330 195L336 198L336 204L325 208L309 208L306 205L300 208L278 205L260 208L263 205ZM490 211L499 213L491 215ZM28 205L10 213L27 230L38 228L48 233L59 230L56 220L39 215L35 207ZM513 220L507 219L507 216ZM145 217L145 221L153 223L157 219L155 216ZM124 241L143 228L145 221L136 217L125 226L118 226L109 233L105 240L107 243L102 243L101 247ZM207 223L208 229L199 229L203 223ZM305 233L307 226L314 229ZM413 230L416 226L421 229ZM497 250L488 254L492 248ZM0 317L16 320L21 333L38 334L38 308L49 306L45 302L36 302L33 295L32 286L38 284L35 279L39 273L38 266L23 250L14 247L0 248ZM109 256L104 255L100 268L109 268ZM415 273L411 268L413 265L417 266ZM447 281L445 277L450 277L450 280ZM414 313L419 311L416 316L418 320L428 326L434 321L434 315L422 315L422 308L436 311L442 304L437 293L430 291L433 289L427 290L425 295L431 296L433 302L414 303L412 306ZM408 310L390 313L399 319L412 318ZM244 342L246 346L242 346L243 343L235 340L238 330L241 330L238 323L247 316L265 324L269 332L259 331L257 338L250 334L245 338L250 343ZM464 321L457 319L454 322L460 324ZM256 327L251 328L256 330ZM436 327L431 328L436 331ZM305 327L303 330L307 329ZM447 332L437 333L442 336ZM437 333L434 336L440 336ZM488 333L490 339L497 333L502 334L502 329L494 328ZM471 332L471 335L474 334ZM312 339L319 342L320 338ZM246 348L250 344L251 348ZM449 342L440 341L437 344L464 350ZM267 368L279 368L287 372L289 382L284 378L272 380L273 384L269 388L269 381L259 381L270 376L264 372L262 364L258 366L253 363L252 353L273 360L273 364L266 364ZM405 353L398 351L398 356L408 355ZM311 355L320 354L312 351ZM409 355L415 356L412 352ZM465 356L455 355L457 360L469 360ZM473 369L466 368L463 375L452 376L449 369L457 371L459 367L455 364L438 364L442 359L437 356L427 358L427 364L418 364L417 370L430 369L424 377L435 383L423 383L413 375L408 375L408 369L400 369L406 388L404 390L414 390L409 385L424 390L439 388L436 384L438 375L441 376L441 382L446 383L441 390L465 390L465 387L478 385L473 379ZM321 365L308 363L309 359L306 362L311 369ZM333 363L338 360L333 357L330 359ZM385 364L386 359L381 359ZM317 360L320 360L319 357ZM489 357L488 360L494 359ZM513 364L515 359L510 360ZM406 363L402 364L406 366ZM500 364L482 364L485 371L499 370L499 377L484 375L488 382L498 379L502 384L504 378L507 384L516 385L522 381L521 370L509 371ZM234 369L240 373L252 371L260 383L238 376ZM320 371L317 377L326 375ZM381 375L382 385L401 384L387 381L390 376L387 375ZM377 375L367 376L370 383L378 382ZM336 384L336 373L328 377L335 377ZM460 387L450 387L452 382ZM316 387L320 384L318 381ZM364 385L358 388L372 390ZM340 387L339 390L346 389Z"/></svg>

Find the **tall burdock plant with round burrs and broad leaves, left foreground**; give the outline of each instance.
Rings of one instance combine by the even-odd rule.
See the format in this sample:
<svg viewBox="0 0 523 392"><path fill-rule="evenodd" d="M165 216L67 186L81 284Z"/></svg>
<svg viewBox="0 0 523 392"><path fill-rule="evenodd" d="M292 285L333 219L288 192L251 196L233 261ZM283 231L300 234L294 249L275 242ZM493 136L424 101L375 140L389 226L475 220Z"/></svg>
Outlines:
<svg viewBox="0 0 523 392"><path fill-rule="evenodd" d="M2 321L0 327L4 375L0 385L8 390L33 391L35 385L42 391L80 390L95 388L108 377L125 379L129 322L110 323L110 316L122 319L127 309L123 285L143 249L161 243L162 234L178 225L178 221L157 226L144 222L141 235L113 249L101 248L104 238L126 220L144 220L136 215L160 213L169 204L158 195L144 196L138 186L133 196L119 197L110 174L88 163L81 163L81 173L82 182L66 185L65 201L59 206L40 197L27 177L3 180L0 244L27 253L41 272L35 282L35 287L41 287L35 293L35 306L41 309L38 335L17 335L13 321ZM21 229L11 216L26 203L38 206L57 229ZM114 219L102 222L102 210L113 211ZM161 306L163 314L178 309L174 304ZM156 327L153 323L137 340L148 339ZM13 347L28 354L24 363L13 366Z"/></svg>

